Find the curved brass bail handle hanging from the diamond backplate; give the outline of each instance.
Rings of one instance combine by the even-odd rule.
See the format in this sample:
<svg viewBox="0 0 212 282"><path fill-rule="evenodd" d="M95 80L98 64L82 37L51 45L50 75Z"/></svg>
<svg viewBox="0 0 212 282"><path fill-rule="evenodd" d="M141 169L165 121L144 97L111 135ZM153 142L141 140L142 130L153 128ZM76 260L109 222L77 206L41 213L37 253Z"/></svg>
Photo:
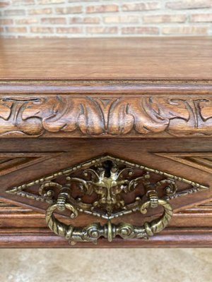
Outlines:
<svg viewBox="0 0 212 282"><path fill-rule="evenodd" d="M149 207L154 207L155 199L150 197L150 200L144 202L139 207L141 213L146 213ZM110 220L103 226L100 223L91 223L85 227L74 227L71 224L66 225L54 217L54 210L61 207L58 206L59 203L55 202L51 204L46 212L46 221L49 228L54 231L57 235L65 237L69 240L71 245L76 242L93 242L97 243L98 238L105 237L109 242L112 241L117 235L124 239L128 238L148 238L149 236L158 233L167 226L172 217L172 207L166 200L157 200L158 204L163 206L164 212L159 219L155 219L150 223L146 222L143 226L134 226L129 223L111 223ZM74 219L78 216L78 211L70 203L65 203L64 207L71 211L71 218Z"/></svg>

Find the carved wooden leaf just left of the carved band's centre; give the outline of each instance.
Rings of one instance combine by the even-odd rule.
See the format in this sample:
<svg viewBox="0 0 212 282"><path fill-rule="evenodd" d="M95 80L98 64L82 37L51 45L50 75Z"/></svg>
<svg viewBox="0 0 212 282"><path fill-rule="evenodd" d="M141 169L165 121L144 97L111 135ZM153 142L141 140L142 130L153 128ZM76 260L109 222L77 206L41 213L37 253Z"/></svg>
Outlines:
<svg viewBox="0 0 212 282"><path fill-rule="evenodd" d="M100 109L91 99L50 97L39 104L29 102L23 119L37 116L42 118L43 128L49 132L72 132L79 128L82 133L98 135L103 133L103 118Z"/></svg>

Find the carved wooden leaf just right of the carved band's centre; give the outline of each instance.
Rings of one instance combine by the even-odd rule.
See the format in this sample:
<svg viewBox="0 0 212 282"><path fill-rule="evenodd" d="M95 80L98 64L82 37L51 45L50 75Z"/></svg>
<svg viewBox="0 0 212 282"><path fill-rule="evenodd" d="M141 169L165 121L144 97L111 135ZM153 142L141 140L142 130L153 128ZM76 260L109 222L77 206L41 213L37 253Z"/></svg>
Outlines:
<svg viewBox="0 0 212 282"><path fill-rule="evenodd" d="M184 101L169 102L165 98L143 97L119 99L112 105L109 133L126 134L134 128L138 133L158 133L167 128L171 118L189 119Z"/></svg>

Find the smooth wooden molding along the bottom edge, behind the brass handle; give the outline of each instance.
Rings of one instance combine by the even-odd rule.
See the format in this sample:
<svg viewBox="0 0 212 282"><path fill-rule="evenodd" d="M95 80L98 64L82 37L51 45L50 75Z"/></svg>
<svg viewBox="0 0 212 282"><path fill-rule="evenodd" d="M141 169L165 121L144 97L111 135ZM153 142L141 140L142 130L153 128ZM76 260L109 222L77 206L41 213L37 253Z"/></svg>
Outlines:
<svg viewBox="0 0 212 282"><path fill-rule="evenodd" d="M90 243L82 242L77 245L67 245L66 239L57 236L47 228L4 228L0 231L0 247L34 248L34 247L61 247L61 248L90 248ZM163 231L152 240L115 238L110 244L107 239L100 238L98 245L92 248L131 248L131 247L211 247L212 228L170 228Z"/></svg>

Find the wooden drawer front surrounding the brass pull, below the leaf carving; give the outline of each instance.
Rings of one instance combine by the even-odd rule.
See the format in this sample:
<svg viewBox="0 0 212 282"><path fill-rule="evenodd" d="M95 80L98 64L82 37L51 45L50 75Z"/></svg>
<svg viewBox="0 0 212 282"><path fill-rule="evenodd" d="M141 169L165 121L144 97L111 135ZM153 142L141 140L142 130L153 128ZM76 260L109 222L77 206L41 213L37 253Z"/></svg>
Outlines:
<svg viewBox="0 0 212 282"><path fill-rule="evenodd" d="M119 247L122 247L130 246L129 242L131 242L132 245L136 246L153 247L160 245L162 238L163 240L170 240L169 236L172 237L171 244L176 243L179 246L189 244L188 242L183 243L184 239L182 239L181 243L177 242L177 234L182 236L182 238L184 238L183 236L187 238L188 234L191 234L193 236L192 238L195 238L193 242L195 245L195 240L199 238L200 233L206 236L211 234L210 209L209 212L206 210L204 212L197 212L197 214L190 212L194 207L197 207L196 211L201 211L201 208L198 207L202 207L202 205L206 205L206 203L212 200L212 191L210 189L212 178L210 171L211 145L211 140L202 138L178 138L177 140L170 140L170 138L142 140L136 138L131 138L130 140L121 138L119 140L52 138L49 140L43 138L40 140L20 139L20 142L11 139L1 140L1 200L27 209L24 213L12 213L8 219L6 219L6 213L4 212L4 215L1 217L1 226L4 226L4 231L10 233L11 236L13 236L13 231L19 233L21 230L23 233L26 232L25 236L32 236L30 238L34 238L33 236L37 238L38 236L40 241L36 239L36 245L42 245L43 240L45 242L50 240L48 241L49 246L51 244L53 246L55 240L56 245L64 246L66 243L66 247L69 247L69 244L64 238L57 238L58 236L54 235L47 228L45 211L49 207L49 202L42 202L31 197L21 197L16 193L8 193L6 190L13 190L14 187L30 183L45 176L51 176L52 173L66 170L66 168L83 163L89 159L110 155L115 158L124 159L132 164L139 164L152 168L155 171L166 173L164 176L177 176L179 178L177 180L177 189L179 191L191 188L190 183L183 183L181 179L199 183L199 185L206 187L206 189L185 193L183 197L170 199L170 204L174 212L170 223L163 231L151 237L148 242L141 238L123 240L118 237L114 238L112 242L100 238L98 246L112 247L117 244ZM153 177L153 181L155 179L158 180L158 176L156 178ZM39 195L36 185L32 185L31 188L23 188L23 196L24 192ZM159 195L161 197L163 196L161 191ZM31 212L31 210L34 212ZM162 210L159 208L149 209L147 214L134 212L129 215L120 216L117 219L112 219L112 223L128 222L140 226L146 221L150 222L153 219L158 219L161 212ZM102 225L105 224L105 219L99 219L89 214L82 213L76 219L69 219L67 212L57 210L56 214L58 214L57 219L59 221L66 224L71 223L74 226L87 226L93 222L100 222ZM196 227L199 228L198 233L195 233ZM176 235L176 240L174 239L174 234ZM49 239L47 239L48 236L50 236ZM18 238L21 238L21 234ZM2 240L2 245L4 245L4 239ZM77 247L89 247L89 244L90 247L93 247L92 243L85 242L77 243ZM30 245L30 242L27 245Z"/></svg>

